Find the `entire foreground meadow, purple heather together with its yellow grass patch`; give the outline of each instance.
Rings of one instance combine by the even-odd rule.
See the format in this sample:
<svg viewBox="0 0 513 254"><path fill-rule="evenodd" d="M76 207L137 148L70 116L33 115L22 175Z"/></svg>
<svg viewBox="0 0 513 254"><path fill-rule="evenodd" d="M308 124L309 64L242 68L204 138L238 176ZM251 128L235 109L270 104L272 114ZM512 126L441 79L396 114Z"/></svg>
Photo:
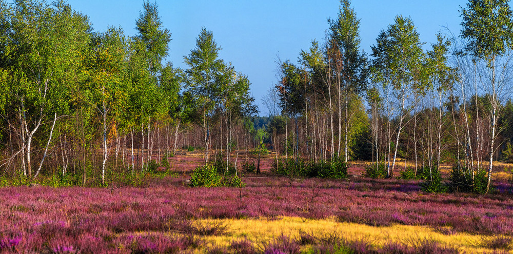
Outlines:
<svg viewBox="0 0 513 254"><path fill-rule="evenodd" d="M241 158L239 158L241 160ZM0 188L2 253L511 253L513 196L425 193L420 181L291 179L192 188L201 158L144 187ZM509 252L508 252L509 251Z"/></svg>

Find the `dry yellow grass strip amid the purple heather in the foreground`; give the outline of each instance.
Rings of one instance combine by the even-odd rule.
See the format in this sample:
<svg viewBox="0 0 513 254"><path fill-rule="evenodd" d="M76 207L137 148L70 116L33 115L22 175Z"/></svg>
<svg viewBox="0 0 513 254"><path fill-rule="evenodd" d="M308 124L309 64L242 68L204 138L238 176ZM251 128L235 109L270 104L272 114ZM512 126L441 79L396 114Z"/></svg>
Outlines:
<svg viewBox="0 0 513 254"><path fill-rule="evenodd" d="M336 235L348 240L364 239L377 246L391 241L415 243L422 240L434 240L443 245L456 246L466 253L486 253L491 251L490 249L479 247L483 236L468 235L466 233L443 235L432 228L424 226L393 225L389 227L373 227L356 223L340 223L333 219L304 221L301 218L295 217L285 217L278 220L204 219L198 220L197 223L223 223L229 226L227 235L206 237L206 248L198 250L198 252L202 252L212 246L228 246L235 239L247 238L257 247L263 246L264 243L281 235L299 239L300 230L312 233L313 235L336 233Z"/></svg>

